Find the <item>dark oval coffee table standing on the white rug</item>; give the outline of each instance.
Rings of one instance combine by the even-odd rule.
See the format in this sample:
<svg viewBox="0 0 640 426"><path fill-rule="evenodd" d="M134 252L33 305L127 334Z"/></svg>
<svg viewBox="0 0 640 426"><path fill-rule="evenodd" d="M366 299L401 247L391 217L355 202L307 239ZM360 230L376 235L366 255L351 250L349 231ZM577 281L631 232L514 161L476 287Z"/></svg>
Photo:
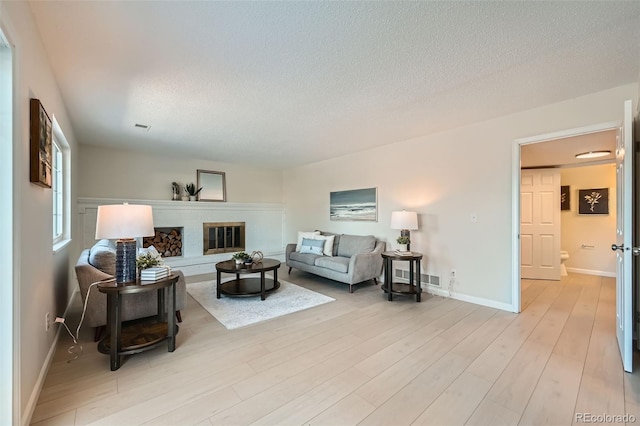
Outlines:
<svg viewBox="0 0 640 426"><path fill-rule="evenodd" d="M260 262L254 262L251 265L244 263L236 264L235 260L225 260L216 263L216 297L220 299L220 294L232 297L248 297L260 295L260 299L264 300L268 293L276 291L280 288L278 281L278 268L280 261L275 259L262 259ZM264 273L273 271L273 279L266 279ZM220 281L221 273L235 274L236 279L223 283ZM240 275L259 273L260 278L240 278Z"/></svg>

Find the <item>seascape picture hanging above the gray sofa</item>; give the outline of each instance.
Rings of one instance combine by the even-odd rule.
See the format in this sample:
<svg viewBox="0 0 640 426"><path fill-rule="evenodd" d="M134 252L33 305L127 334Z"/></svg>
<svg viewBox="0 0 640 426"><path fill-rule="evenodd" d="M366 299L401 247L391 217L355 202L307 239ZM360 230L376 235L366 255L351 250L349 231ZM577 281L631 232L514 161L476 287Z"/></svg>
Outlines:
<svg viewBox="0 0 640 426"><path fill-rule="evenodd" d="M377 221L377 188L331 192L329 194L329 219Z"/></svg>

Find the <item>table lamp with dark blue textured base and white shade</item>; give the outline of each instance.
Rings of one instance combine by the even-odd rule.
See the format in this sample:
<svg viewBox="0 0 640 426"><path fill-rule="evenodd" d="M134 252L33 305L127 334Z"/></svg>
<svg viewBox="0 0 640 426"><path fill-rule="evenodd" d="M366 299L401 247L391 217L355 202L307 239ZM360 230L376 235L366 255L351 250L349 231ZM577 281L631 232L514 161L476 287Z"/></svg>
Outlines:
<svg viewBox="0 0 640 426"><path fill-rule="evenodd" d="M154 235L151 206L113 204L98 206L96 239L117 239L116 282L136 281L136 240Z"/></svg>

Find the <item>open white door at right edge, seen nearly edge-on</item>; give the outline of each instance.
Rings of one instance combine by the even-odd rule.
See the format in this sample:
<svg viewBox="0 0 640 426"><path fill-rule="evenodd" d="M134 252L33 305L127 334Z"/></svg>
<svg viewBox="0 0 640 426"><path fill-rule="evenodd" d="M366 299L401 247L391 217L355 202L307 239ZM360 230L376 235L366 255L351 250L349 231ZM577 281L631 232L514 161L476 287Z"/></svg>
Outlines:
<svg viewBox="0 0 640 426"><path fill-rule="evenodd" d="M625 371L633 370L633 115L631 101L624 103L624 119L616 146L616 335Z"/></svg>

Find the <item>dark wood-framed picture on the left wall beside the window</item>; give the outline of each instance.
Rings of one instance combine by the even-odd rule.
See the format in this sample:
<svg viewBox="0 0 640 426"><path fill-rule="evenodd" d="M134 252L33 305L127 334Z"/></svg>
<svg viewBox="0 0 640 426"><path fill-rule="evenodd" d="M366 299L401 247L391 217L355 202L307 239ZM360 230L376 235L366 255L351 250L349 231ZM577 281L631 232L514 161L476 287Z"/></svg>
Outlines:
<svg viewBox="0 0 640 426"><path fill-rule="evenodd" d="M51 119L38 99L31 99L30 112L29 181L44 188L51 188Z"/></svg>

